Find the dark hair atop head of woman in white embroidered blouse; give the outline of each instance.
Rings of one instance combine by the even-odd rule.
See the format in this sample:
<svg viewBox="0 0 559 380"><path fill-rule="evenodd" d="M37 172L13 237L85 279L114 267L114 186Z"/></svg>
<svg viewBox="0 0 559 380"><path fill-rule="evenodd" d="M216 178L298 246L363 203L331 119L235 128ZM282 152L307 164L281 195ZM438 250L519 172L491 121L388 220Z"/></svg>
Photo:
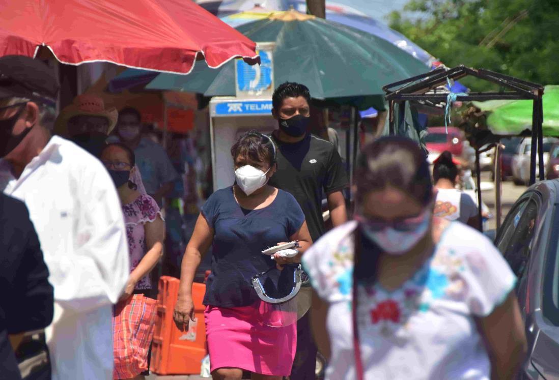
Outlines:
<svg viewBox="0 0 559 380"><path fill-rule="evenodd" d="M375 190L394 186L427 206L433 200L429 164L415 141L406 137L381 137L365 146L354 174L357 201Z"/></svg>

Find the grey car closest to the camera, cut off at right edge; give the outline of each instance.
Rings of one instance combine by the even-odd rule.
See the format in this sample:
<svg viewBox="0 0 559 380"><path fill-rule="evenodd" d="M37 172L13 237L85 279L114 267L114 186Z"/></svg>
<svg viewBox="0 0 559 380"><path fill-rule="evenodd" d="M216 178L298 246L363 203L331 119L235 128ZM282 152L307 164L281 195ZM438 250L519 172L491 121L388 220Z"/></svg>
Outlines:
<svg viewBox="0 0 559 380"><path fill-rule="evenodd" d="M496 233L518 281L529 357L518 379L559 380L559 180L530 187ZM490 234L488 234L489 236Z"/></svg>

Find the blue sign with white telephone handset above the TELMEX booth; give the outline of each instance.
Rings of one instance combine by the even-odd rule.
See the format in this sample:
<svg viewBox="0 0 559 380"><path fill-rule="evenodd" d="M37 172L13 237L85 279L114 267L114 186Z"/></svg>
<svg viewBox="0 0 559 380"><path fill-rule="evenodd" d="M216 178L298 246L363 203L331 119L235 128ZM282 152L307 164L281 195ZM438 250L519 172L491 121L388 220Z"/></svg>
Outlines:
<svg viewBox="0 0 559 380"><path fill-rule="evenodd" d="M259 65L249 65L243 60L236 61L237 95L239 92L259 94L273 91L272 88L272 52L259 50Z"/></svg>

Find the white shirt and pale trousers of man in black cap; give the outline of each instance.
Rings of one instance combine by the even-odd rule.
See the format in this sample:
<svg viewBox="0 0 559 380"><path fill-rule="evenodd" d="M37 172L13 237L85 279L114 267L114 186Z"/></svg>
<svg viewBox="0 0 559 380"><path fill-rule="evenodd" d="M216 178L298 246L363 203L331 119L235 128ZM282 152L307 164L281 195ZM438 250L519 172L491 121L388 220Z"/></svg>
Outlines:
<svg viewBox="0 0 559 380"><path fill-rule="evenodd" d="M0 191L25 202L54 287L53 379L112 379L112 305L130 274L120 201L101 162L59 136Z"/></svg>

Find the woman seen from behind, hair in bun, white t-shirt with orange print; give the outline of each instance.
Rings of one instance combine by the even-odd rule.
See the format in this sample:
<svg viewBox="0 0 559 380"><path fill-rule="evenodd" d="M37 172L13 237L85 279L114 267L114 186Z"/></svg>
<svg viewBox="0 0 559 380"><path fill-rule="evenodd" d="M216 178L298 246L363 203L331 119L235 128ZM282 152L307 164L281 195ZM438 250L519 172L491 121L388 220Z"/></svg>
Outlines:
<svg viewBox="0 0 559 380"><path fill-rule="evenodd" d="M433 180L437 189L434 215L449 221L457 220L479 229L480 219L476 203L470 195L456 189L459 170L449 151L444 151L435 160Z"/></svg>

